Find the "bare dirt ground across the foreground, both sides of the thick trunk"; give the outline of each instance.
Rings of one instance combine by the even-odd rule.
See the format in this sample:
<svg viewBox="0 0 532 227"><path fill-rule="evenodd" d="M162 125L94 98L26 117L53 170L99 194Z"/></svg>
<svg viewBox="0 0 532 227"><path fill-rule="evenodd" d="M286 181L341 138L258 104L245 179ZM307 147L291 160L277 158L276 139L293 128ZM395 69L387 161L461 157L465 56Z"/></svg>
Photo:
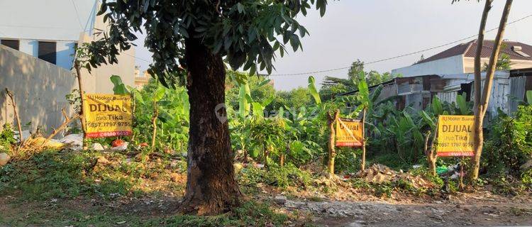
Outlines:
<svg viewBox="0 0 532 227"><path fill-rule="evenodd" d="M113 158L106 160L111 161L96 167L113 165ZM175 185L186 182L185 173L173 169L157 176L139 179L143 194L112 193L106 199L78 196L28 201L21 192L0 194L0 227L154 226L145 223L176 216L184 188ZM377 196L374 189L354 187L345 179L314 181L316 187L309 189L279 189L262 183L241 189L247 200L272 204L275 212L297 216L285 226L532 226L530 191L503 196L484 187L467 193L394 190L389 196ZM284 199L279 201L279 196Z"/></svg>

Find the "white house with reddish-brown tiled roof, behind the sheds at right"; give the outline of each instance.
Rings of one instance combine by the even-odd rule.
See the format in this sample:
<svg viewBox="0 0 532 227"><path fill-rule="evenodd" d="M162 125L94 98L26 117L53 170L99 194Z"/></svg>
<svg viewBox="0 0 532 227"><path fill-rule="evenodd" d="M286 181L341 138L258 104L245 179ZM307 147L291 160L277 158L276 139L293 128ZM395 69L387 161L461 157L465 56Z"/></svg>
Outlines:
<svg viewBox="0 0 532 227"><path fill-rule="evenodd" d="M489 61L492 53L493 40L484 40L482 44L481 62ZM414 65L392 70L392 74L403 77L416 77L430 74L464 74L475 72L474 60L477 50L477 40L456 45L443 50L431 57L416 62ZM504 41L501 54L509 55L511 70L532 67L532 46L525 43Z"/></svg>

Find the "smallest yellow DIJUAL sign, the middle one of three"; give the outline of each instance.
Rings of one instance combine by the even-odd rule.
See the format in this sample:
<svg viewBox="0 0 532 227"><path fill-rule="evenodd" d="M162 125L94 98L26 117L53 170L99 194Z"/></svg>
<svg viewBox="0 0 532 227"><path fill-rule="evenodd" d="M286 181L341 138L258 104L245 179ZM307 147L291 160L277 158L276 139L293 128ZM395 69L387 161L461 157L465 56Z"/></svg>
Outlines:
<svg viewBox="0 0 532 227"><path fill-rule="evenodd" d="M361 147L362 122L350 118L338 118L336 120L336 146L338 147Z"/></svg>

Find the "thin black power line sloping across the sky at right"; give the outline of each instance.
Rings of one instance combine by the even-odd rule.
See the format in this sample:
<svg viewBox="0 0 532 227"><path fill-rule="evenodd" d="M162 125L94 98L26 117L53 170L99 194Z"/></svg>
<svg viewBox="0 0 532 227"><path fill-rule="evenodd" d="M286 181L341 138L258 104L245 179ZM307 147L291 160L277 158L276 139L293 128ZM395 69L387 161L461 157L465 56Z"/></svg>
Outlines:
<svg viewBox="0 0 532 227"><path fill-rule="evenodd" d="M529 18L531 17L532 14L529 14L528 16L523 16L522 18L519 18L515 21L511 21L509 23L506 23L506 26L508 25L511 25L512 23L516 23L518 21L522 21L526 18ZM499 27L497 28L492 28L492 29L489 29L488 31L485 31L485 33L489 33L489 32L492 32L492 31L495 31L499 29ZM366 62L364 63L364 65L370 65L370 64L374 64L374 63L377 63L377 62L384 62L384 61L387 61L387 60L394 60L394 59L397 59L397 58L400 58L400 57L406 57L406 56L409 56L409 55L415 55L415 54L418 54L420 52L425 52L425 51L428 51L428 50L434 50L434 49L438 49L438 48L443 48L447 45L452 45L452 44L455 44L455 43L459 43L463 40L468 40L470 38L475 38L477 37L477 35L470 35L470 36L467 36L466 38L461 38L459 40L455 40L453 42L450 42L450 43L445 43L445 44L442 44L442 45L438 45L438 46L435 46L435 47L432 47L432 48L427 48L427 49L424 49L424 50L418 50L418 51L415 51L415 52L409 52L409 53L406 53L406 54L403 54L403 55L397 55L395 57L387 57L387 58L383 58L383 59L380 59L380 60L375 60L375 61L372 61L372 62ZM318 70L318 71L314 71L314 72L299 72L299 73L287 73L287 74L270 74L269 76L270 77L280 77L280 76L297 76L297 75L306 75L306 74L318 74L318 73L322 73L322 72L334 72L334 71L338 71L338 70L346 70L348 68L350 68L351 66L347 66L347 67L339 67L339 68L336 68L336 69L330 69L330 70Z"/></svg>

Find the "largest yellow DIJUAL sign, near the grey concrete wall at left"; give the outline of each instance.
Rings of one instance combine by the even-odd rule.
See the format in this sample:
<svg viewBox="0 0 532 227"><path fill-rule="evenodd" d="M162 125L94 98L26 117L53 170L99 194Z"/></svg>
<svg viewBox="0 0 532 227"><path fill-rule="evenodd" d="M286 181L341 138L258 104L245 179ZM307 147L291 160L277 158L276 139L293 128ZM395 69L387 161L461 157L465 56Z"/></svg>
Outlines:
<svg viewBox="0 0 532 227"><path fill-rule="evenodd" d="M131 135L133 110L127 94L85 94L87 138Z"/></svg>

